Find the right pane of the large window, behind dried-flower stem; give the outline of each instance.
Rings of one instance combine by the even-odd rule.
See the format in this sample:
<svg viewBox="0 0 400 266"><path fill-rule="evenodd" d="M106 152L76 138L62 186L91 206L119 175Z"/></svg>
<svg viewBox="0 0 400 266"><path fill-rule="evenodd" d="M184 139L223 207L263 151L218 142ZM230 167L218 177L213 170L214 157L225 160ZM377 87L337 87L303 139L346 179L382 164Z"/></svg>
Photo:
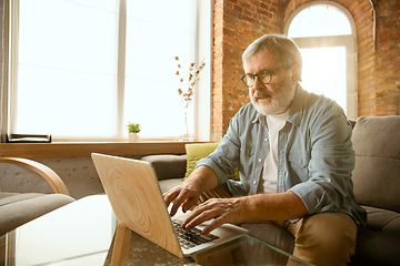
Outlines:
<svg viewBox="0 0 400 266"><path fill-rule="evenodd" d="M124 123L139 122L141 137L184 133L174 57L180 58L183 70L194 60L194 4L188 0L127 2ZM193 103L189 106L192 129Z"/></svg>

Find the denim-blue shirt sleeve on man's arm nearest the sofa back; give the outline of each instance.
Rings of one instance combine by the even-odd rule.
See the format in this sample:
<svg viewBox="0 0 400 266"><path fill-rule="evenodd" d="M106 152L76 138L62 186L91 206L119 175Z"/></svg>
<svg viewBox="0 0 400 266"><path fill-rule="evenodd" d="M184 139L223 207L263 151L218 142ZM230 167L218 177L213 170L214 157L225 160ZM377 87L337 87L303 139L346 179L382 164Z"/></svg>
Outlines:
<svg viewBox="0 0 400 266"><path fill-rule="evenodd" d="M292 186L309 214L338 212L353 195L351 172L354 167L352 129L336 104L319 113L310 123L311 157L308 181Z"/></svg>

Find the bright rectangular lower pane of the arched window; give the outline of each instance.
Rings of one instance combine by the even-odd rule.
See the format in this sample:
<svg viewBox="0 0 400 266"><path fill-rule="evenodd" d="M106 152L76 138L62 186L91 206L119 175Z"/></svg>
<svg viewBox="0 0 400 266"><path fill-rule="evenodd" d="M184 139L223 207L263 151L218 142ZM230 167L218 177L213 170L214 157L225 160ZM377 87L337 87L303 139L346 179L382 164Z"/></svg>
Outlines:
<svg viewBox="0 0 400 266"><path fill-rule="evenodd" d="M346 48L300 49L304 90L334 100L346 112Z"/></svg>

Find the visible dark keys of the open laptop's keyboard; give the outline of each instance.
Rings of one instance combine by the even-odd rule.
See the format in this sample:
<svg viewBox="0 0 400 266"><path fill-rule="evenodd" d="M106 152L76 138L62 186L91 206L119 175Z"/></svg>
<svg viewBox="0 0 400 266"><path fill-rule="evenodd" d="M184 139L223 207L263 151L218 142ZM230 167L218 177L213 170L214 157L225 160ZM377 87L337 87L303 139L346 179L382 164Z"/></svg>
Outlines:
<svg viewBox="0 0 400 266"><path fill-rule="evenodd" d="M192 229L183 229L181 227L181 223L177 221L172 221L173 229L177 234L179 244L186 248L189 249L191 247L211 242L213 239L218 239L219 237L212 234L203 235L201 234L201 231L198 228Z"/></svg>

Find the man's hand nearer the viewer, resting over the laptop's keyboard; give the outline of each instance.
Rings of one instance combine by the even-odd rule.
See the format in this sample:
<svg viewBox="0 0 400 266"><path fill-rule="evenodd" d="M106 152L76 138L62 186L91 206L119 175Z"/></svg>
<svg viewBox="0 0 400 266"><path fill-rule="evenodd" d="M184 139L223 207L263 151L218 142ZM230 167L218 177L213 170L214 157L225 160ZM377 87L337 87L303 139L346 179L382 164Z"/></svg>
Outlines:
<svg viewBox="0 0 400 266"><path fill-rule="evenodd" d="M247 206L248 201L246 201L246 197L211 198L197 206L183 222L182 227L191 229L213 218L202 231L203 234L208 234L222 224L240 224L247 219Z"/></svg>

